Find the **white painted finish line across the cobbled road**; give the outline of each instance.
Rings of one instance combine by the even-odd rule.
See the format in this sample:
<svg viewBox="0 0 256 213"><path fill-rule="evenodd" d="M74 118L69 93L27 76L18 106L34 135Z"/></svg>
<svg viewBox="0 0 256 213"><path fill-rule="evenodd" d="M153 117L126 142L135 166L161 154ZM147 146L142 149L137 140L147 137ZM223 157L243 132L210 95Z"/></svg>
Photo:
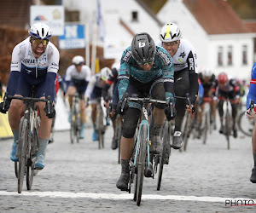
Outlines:
<svg viewBox="0 0 256 213"><path fill-rule="evenodd" d="M69 193L69 192L6 192L0 191L0 196L38 196L49 198L87 198L87 199L133 199L133 194L129 193ZM248 198L221 198L221 197L197 197L197 196L183 196L183 195L156 195L143 194L142 199L162 199L162 200L179 200L179 201L201 201L201 202L220 202L226 200L246 200L256 204L256 199Z"/></svg>

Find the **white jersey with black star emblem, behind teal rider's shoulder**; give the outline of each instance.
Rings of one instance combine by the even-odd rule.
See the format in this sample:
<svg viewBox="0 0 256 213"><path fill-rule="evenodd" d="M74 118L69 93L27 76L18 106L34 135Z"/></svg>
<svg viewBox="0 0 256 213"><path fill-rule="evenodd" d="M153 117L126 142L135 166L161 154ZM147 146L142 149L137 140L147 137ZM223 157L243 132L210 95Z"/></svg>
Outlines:
<svg viewBox="0 0 256 213"><path fill-rule="evenodd" d="M156 42L156 46L162 47L162 42ZM173 71L177 72L184 68L189 68L189 71L198 73L197 57L195 49L185 38L180 38L180 44L175 55L172 56Z"/></svg>

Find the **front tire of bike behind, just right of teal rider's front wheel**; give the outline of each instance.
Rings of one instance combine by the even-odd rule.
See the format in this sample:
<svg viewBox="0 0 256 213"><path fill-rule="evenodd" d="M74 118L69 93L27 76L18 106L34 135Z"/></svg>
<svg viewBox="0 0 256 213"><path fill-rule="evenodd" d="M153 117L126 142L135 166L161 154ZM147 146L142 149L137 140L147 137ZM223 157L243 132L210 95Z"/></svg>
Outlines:
<svg viewBox="0 0 256 213"><path fill-rule="evenodd" d="M168 144L170 144L170 125L169 122L166 120L165 124L164 124L164 135L163 135L163 149L162 149L162 153L160 156L160 164L159 164L159 169L158 169L158 179L157 179L157 191L160 190L161 187L161 181L162 181L162 175L163 175L163 170L164 170L164 161L165 161L165 156L168 155L168 150L167 150L167 146Z"/></svg>

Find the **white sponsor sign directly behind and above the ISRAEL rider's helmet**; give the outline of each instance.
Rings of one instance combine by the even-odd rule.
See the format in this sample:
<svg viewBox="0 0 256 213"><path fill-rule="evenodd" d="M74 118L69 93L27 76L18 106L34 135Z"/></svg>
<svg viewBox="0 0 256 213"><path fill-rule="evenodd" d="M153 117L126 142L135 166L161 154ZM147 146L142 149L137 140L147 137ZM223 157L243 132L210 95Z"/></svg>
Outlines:
<svg viewBox="0 0 256 213"><path fill-rule="evenodd" d="M30 25L43 22L48 25L54 36L64 34L64 7L63 6L31 6Z"/></svg>

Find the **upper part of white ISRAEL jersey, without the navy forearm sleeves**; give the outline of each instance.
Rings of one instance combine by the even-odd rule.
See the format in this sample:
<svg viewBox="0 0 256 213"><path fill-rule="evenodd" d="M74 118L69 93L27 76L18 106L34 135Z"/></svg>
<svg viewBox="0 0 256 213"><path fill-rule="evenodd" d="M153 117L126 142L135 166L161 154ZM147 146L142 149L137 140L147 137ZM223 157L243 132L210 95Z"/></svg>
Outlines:
<svg viewBox="0 0 256 213"><path fill-rule="evenodd" d="M57 73L60 54L53 43L48 43L43 55L38 59L32 55L30 37L17 44L12 54L10 70L24 72L33 78L40 78L47 72Z"/></svg>

